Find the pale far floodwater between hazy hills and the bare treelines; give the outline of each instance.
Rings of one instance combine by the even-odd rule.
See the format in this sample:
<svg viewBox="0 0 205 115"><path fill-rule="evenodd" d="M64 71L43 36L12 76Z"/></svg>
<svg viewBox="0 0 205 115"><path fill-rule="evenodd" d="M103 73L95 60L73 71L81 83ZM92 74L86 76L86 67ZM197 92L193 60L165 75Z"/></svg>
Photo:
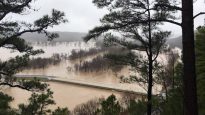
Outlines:
<svg viewBox="0 0 205 115"><path fill-rule="evenodd" d="M45 53L34 57L51 57L53 54L71 54L72 50L89 50L95 47L95 42L55 42L55 43L32 43L34 49L43 49ZM19 55L18 51L0 48L0 59L8 60L11 57Z"/></svg>

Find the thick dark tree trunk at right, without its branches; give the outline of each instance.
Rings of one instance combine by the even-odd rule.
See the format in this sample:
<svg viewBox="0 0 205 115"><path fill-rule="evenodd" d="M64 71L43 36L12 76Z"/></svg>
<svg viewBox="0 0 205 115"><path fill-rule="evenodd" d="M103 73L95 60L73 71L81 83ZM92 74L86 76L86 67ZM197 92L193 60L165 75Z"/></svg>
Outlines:
<svg viewBox="0 0 205 115"><path fill-rule="evenodd" d="M182 0L182 43L184 63L184 115L198 115L195 49L194 49L194 22L193 0Z"/></svg>

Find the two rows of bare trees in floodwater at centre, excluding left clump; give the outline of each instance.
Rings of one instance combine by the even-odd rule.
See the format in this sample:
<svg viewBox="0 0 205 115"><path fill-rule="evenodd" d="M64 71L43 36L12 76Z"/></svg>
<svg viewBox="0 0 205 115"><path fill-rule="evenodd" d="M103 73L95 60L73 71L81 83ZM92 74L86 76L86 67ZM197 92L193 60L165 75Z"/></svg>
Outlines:
<svg viewBox="0 0 205 115"><path fill-rule="evenodd" d="M106 57L106 54L122 54L126 53L127 50L121 47L101 47L100 49L90 49L88 51L80 50L71 52L69 59L80 59L86 58L91 55L97 55L99 53L103 53L102 55L98 55L97 57L93 58L91 61L81 61L78 64L74 65L74 69L80 72L103 72L112 70L113 72L120 71L124 66L122 65L115 65L112 63L111 59Z"/></svg>

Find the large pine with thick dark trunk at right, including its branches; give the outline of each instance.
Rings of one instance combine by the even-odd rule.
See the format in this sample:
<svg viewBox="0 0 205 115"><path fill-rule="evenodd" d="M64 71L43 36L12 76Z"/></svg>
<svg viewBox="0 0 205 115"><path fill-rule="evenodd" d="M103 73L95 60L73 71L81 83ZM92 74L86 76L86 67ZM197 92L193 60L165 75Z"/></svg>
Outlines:
<svg viewBox="0 0 205 115"><path fill-rule="evenodd" d="M193 0L155 0L152 1L153 8L149 8L147 10L144 10L144 12L136 12L143 11L140 9L146 8L145 2L149 2L149 0L93 0L93 2L99 7L108 7L110 12L113 12L113 8L119 10L124 9L132 9L131 11L134 11L133 13L124 12L124 17L120 15L115 15L116 13L113 13L116 18L119 18L117 21L112 21L115 18L109 18L109 15L106 15L107 20L103 21L104 23L113 22L114 25L117 25L116 27L113 27L113 24L106 25L104 24L102 27L95 28L95 31L90 31L90 36L87 38L92 38L100 35L103 32L106 32L106 30L118 30L121 27L129 26L134 24L144 24L146 22L157 22L157 24L160 24L162 22L168 22L175 25L178 25L182 28L182 37L183 37L183 81L184 81L184 114L185 115L197 115L197 96L196 96L196 72L195 72L195 51L194 51L194 28L193 28L193 20L200 16L205 14L205 12L200 12L193 16ZM115 5L112 5L112 3L116 3ZM182 7L180 7L180 5ZM113 7L114 6L114 7ZM133 10L134 9L134 10ZM148 11L155 10L158 12L158 18L151 18L150 20L142 21L144 17L140 17L141 14L144 14ZM181 18L182 22L176 21L177 19L174 18L173 15L176 12L181 12ZM129 17L132 15L132 17ZM127 19L125 19L125 17ZM121 20L120 19L124 19ZM101 31L103 29L103 31Z"/></svg>

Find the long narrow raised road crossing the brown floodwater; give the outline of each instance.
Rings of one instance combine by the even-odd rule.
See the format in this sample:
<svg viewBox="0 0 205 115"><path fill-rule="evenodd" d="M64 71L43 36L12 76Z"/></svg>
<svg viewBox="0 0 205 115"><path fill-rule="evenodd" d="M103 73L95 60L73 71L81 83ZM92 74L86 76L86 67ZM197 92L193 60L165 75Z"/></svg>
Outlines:
<svg viewBox="0 0 205 115"><path fill-rule="evenodd" d="M79 85L79 86L86 86L86 87L92 87L92 88L99 88L99 89L106 89L106 90L113 90L117 92L125 92L125 93L133 93L138 96L146 96L146 93L137 92L130 90L126 87L122 87L115 84L105 84L105 83L99 83L99 82L87 82L82 80L75 80L75 79L64 79L59 78L57 76L45 76L45 75L15 75L17 78L39 78L39 79L46 79L51 82L61 82L61 83L67 83L67 84L73 84L73 85Z"/></svg>

